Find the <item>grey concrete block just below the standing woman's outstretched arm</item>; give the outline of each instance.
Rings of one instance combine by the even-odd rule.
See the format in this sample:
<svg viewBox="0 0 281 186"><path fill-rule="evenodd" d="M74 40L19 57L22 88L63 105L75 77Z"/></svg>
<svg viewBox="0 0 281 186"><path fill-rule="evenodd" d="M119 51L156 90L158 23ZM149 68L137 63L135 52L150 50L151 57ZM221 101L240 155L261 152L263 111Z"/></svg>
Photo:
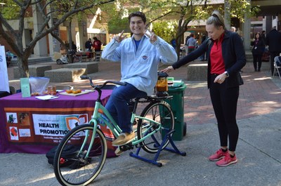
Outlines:
<svg viewBox="0 0 281 186"><path fill-rule="evenodd" d="M207 81L207 63L190 64L187 67L188 81Z"/></svg>

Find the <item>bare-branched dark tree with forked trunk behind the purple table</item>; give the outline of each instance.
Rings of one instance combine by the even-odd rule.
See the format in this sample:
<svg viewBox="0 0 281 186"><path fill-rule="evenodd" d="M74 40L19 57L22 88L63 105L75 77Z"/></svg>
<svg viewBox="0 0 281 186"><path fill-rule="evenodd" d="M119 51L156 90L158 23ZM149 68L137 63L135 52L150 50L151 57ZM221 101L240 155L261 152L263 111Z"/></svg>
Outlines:
<svg viewBox="0 0 281 186"><path fill-rule="evenodd" d="M62 1L62 0L60 0ZM28 77L29 76L29 70L28 70L28 58L30 57L30 54L32 50L34 49L35 45L39 41L39 39L42 39L47 34L51 34L55 39L60 41L61 44L63 44L63 41L54 34L54 30L58 29L59 25L65 22L67 18L72 17L73 15L76 15L79 12L83 12L86 10L89 10L91 8L97 7L99 5L108 4L110 2L113 2L115 0L105 0L105 1L86 1L86 0L75 0L72 1L73 4L70 4L70 8L67 8L67 11L60 10L56 8L56 4L59 4L60 1L55 0L13 0L14 4L19 8L18 11L18 22L19 22L19 28L17 31L9 25L8 21L3 17L3 15L0 13L0 34L3 37L3 39L6 40L6 42L11 46L13 51L16 55L18 55L18 67L20 69L20 77ZM68 3L71 3L71 1L65 1ZM86 2L84 4L84 2ZM33 11L39 11L39 14L42 16L43 21L39 22L41 25L39 27L39 30L37 33L34 33L34 37L32 38L32 41L27 44L25 50L22 48L22 36L23 36L23 29L24 29L24 22L27 15L27 10L32 6ZM48 10L48 6L50 6L51 10ZM36 8L34 10L34 8ZM54 9L52 9L54 8ZM51 16L53 16L53 13L55 15L58 15L58 21L55 22L53 25L48 25L49 21L51 20ZM8 32L7 32L8 31Z"/></svg>

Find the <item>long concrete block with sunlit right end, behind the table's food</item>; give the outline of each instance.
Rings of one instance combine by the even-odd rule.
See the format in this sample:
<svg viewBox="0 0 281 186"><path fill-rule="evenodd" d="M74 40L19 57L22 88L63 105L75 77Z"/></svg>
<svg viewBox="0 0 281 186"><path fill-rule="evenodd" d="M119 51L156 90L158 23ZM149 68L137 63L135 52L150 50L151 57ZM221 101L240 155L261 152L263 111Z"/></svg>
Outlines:
<svg viewBox="0 0 281 186"><path fill-rule="evenodd" d="M74 82L79 81L80 76L85 74L85 68L61 68L45 71L45 77L51 82Z"/></svg>

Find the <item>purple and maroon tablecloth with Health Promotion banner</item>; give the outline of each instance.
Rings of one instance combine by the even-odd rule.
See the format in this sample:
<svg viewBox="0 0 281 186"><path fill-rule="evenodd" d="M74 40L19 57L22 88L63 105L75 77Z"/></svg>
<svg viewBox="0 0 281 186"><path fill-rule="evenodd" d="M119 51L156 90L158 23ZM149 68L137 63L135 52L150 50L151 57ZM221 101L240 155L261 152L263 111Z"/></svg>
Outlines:
<svg viewBox="0 0 281 186"><path fill-rule="evenodd" d="M103 105L111 93L112 90L103 91ZM91 119L97 92L58 95L53 100L22 98L21 93L0 98L0 152L45 154L58 144L67 128L73 127L73 119L80 124ZM68 123L63 125L64 122Z"/></svg>

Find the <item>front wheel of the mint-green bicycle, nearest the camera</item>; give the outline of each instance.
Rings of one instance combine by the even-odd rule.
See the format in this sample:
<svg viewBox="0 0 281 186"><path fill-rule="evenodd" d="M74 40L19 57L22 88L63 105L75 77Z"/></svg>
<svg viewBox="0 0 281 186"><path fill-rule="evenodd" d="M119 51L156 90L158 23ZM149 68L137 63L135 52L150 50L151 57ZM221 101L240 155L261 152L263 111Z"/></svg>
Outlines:
<svg viewBox="0 0 281 186"><path fill-rule="evenodd" d="M94 138L93 145L90 142ZM90 147L91 146L91 147ZM72 148L72 154L66 153ZM74 149L74 150L73 150ZM87 152L89 156L86 157ZM72 129L58 145L53 167L61 185L88 185L105 164L107 145L99 128L93 136L93 126L84 124Z"/></svg>

